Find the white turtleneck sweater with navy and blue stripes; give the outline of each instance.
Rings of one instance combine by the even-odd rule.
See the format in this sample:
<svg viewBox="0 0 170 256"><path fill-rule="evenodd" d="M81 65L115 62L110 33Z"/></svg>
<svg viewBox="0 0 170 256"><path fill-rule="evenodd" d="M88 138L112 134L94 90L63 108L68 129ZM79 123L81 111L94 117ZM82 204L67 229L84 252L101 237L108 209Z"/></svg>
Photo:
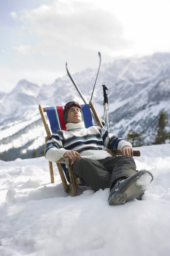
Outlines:
<svg viewBox="0 0 170 256"><path fill-rule="evenodd" d="M53 133L45 148L45 158L51 162L61 159L68 150L77 151L80 156L98 160L111 156L104 149L122 150L131 143L117 138L98 126L85 128L84 122L67 123L66 131Z"/></svg>

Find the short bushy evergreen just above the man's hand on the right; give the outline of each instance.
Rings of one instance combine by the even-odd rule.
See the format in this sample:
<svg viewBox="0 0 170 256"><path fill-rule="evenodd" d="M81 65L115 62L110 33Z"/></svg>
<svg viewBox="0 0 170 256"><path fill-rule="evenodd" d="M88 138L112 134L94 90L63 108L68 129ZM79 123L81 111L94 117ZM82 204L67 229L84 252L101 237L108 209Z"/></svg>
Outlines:
<svg viewBox="0 0 170 256"><path fill-rule="evenodd" d="M143 133L144 133L144 131L142 131L141 133L137 133L133 129L130 129L126 139L127 139L127 141L131 142L133 147L142 146L143 145L143 143L142 143L143 142L143 137L142 137Z"/></svg>

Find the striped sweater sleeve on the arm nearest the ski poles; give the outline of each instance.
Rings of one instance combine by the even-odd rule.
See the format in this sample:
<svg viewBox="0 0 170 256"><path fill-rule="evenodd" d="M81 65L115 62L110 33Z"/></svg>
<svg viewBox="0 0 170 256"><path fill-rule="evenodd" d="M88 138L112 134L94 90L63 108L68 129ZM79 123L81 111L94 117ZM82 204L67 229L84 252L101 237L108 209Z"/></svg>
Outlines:
<svg viewBox="0 0 170 256"><path fill-rule="evenodd" d="M131 146L132 144L120 137L114 136L112 133L105 128L100 128L100 133L103 139L104 146L112 150L121 150L124 146Z"/></svg>

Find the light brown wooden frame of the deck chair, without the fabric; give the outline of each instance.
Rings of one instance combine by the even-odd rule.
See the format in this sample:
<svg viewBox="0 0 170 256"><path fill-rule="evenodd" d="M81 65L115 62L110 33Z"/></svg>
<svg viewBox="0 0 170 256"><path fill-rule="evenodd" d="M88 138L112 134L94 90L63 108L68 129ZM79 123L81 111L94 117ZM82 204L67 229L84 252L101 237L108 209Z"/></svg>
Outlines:
<svg viewBox="0 0 170 256"><path fill-rule="evenodd" d="M94 114L94 117L96 119L96 123L98 124L98 126L100 126L101 128L103 128L103 125L101 123L101 120L94 108L94 105L92 103L92 101L89 102L89 107L92 110L92 113ZM44 114L44 112L46 112L45 108L42 108L41 105L39 105L39 111L41 114L41 118L42 118L42 122L44 124L46 133L47 133L47 137L46 137L46 143L48 141L48 139L50 138L50 136L52 135L46 120L46 116ZM121 155L121 151L120 150L111 150L111 149L107 149L107 152L109 152L111 154L111 156L116 156L116 155ZM134 156L140 156L140 151L133 151ZM50 177L51 177L51 183L54 183L54 173L53 173L53 166L52 166L52 162L48 161L49 163L49 168L50 168ZM77 196L77 189L76 186L82 183L82 179L79 177L77 179L75 179L74 174L73 174L73 167L72 167L72 161L71 158L69 157L65 157L65 158L61 158L60 160L56 161L58 170L59 170L59 174L61 176L61 181L63 183L63 187L65 189L66 192L68 192L70 189L72 189L73 192L73 196ZM68 171L69 171L69 177L70 177L70 184L67 184L63 169L61 164L67 164L68 166Z"/></svg>

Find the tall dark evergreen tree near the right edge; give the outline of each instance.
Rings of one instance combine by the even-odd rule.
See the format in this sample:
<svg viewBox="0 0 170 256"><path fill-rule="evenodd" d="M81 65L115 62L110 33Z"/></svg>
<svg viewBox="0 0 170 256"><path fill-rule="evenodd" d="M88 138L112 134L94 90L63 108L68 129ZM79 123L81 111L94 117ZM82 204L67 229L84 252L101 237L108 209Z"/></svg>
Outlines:
<svg viewBox="0 0 170 256"><path fill-rule="evenodd" d="M169 125L168 117L162 110L159 114L158 125L155 129L156 138L154 144L163 144L167 139L170 139L170 134L166 131L166 126Z"/></svg>

